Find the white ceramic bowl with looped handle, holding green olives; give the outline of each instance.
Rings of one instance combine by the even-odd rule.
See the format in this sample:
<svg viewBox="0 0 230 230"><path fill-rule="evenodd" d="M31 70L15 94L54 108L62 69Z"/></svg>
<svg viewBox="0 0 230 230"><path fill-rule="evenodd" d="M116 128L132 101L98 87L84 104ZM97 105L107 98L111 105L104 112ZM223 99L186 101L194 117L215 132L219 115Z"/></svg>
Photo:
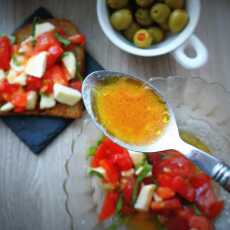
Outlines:
<svg viewBox="0 0 230 230"><path fill-rule="evenodd" d="M113 29L109 21L109 12L106 0L97 0L97 16L99 24L109 40L120 49L138 56L154 57L172 53L178 63L187 69L195 69L207 62L208 52L200 39L193 34L200 17L200 0L186 0L186 10L189 14L189 23L177 35L171 35L163 42L153 45L148 49L136 47L121 33ZM185 53L187 46L195 50L195 57Z"/></svg>

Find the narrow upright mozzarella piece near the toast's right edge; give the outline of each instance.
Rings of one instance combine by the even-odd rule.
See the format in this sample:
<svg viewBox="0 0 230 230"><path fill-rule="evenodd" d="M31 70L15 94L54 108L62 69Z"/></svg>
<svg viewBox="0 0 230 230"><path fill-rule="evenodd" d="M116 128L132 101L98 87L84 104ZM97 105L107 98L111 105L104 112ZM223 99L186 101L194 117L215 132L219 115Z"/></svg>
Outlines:
<svg viewBox="0 0 230 230"><path fill-rule="evenodd" d="M69 73L69 80L75 78L77 68L75 55L72 52L65 52L62 61Z"/></svg>

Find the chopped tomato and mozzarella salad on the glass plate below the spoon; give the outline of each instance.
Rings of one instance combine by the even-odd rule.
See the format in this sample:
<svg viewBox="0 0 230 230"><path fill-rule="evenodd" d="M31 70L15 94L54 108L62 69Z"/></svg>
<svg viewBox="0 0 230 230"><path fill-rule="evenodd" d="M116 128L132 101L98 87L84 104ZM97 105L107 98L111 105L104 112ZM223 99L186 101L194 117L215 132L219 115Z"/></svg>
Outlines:
<svg viewBox="0 0 230 230"><path fill-rule="evenodd" d="M88 155L88 174L104 192L98 220L112 219L111 229L214 229L224 203L211 178L179 152L127 151L104 137Z"/></svg>

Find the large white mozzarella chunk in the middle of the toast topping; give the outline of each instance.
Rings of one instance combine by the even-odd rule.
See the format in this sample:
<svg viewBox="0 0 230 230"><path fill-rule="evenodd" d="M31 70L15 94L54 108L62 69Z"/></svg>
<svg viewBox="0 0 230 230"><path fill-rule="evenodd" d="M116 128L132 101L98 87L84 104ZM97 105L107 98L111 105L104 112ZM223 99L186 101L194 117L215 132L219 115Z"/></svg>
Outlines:
<svg viewBox="0 0 230 230"><path fill-rule="evenodd" d="M48 52L42 51L31 57L25 68L25 72L33 77L42 78L46 70Z"/></svg>

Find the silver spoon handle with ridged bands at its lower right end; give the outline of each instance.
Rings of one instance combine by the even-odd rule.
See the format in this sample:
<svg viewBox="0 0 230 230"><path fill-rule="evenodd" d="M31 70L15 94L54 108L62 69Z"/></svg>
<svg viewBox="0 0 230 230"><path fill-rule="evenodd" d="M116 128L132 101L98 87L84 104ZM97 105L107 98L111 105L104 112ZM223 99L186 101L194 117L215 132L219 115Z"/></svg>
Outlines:
<svg viewBox="0 0 230 230"><path fill-rule="evenodd" d="M192 160L201 170L230 192L230 166L213 155L201 151L185 142L180 150L187 158Z"/></svg>

